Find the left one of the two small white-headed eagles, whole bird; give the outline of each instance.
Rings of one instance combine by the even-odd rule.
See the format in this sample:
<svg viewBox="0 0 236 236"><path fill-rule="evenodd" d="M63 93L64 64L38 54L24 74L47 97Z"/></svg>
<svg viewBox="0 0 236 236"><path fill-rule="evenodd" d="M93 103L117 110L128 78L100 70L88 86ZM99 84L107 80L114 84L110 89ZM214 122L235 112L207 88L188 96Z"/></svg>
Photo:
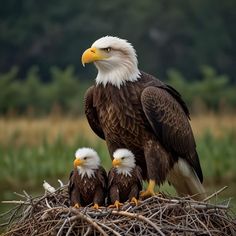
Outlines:
<svg viewBox="0 0 236 236"><path fill-rule="evenodd" d="M69 180L70 205L94 208L104 205L107 195L107 174L100 166L100 158L91 148L80 148L75 153L74 170Z"/></svg>

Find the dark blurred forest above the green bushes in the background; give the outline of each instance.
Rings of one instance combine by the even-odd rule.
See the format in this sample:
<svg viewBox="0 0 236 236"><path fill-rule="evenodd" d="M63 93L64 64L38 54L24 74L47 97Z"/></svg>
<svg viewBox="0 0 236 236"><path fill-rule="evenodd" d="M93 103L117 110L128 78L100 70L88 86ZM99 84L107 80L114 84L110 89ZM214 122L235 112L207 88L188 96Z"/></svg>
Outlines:
<svg viewBox="0 0 236 236"><path fill-rule="evenodd" d="M0 72L6 73L17 65L20 77L27 78L22 85L15 81L4 93L9 93L8 96L10 90L15 90L15 96L30 93L31 86L35 88L31 93L37 106L43 103L37 99L41 93L50 103L49 90L52 89L52 94L58 93L57 83L68 83L66 86L73 83L79 86L80 83L65 82L61 78L58 82L50 82L52 88L47 88L39 80L53 81L60 71L58 68L65 69L67 65L73 65L73 73L80 78L91 78L88 70L82 69L80 57L84 49L104 35L128 39L137 50L140 68L161 79L173 76L175 72L170 72L169 68L181 71L188 80L200 79L202 66L209 65L214 73L227 74L227 79L220 77L219 82L215 82L210 75L204 75L204 78L209 76L209 80L204 80L206 84L194 82L193 88L225 88L229 82L236 82L235 12L235 0L2 1ZM32 69L33 65L38 66L40 73ZM52 70L52 66L57 69ZM61 72L72 73L68 68ZM14 77L14 73L15 70L11 70L8 76ZM59 73L60 76L63 77L63 73ZM179 79L182 75L178 74ZM4 78L2 75L1 84L8 83ZM214 85L207 85L211 82ZM188 86L183 79L178 83ZM16 89L19 86L21 91ZM75 89L73 86L71 89L72 94ZM65 94L60 94L58 100L68 93L63 92ZM23 97L18 97L14 106L22 108ZM7 102L13 104L13 98L9 99ZM211 103L211 98L204 97L204 100ZM63 101L63 106L71 106L71 102ZM1 106L2 111L6 109L4 106Z"/></svg>

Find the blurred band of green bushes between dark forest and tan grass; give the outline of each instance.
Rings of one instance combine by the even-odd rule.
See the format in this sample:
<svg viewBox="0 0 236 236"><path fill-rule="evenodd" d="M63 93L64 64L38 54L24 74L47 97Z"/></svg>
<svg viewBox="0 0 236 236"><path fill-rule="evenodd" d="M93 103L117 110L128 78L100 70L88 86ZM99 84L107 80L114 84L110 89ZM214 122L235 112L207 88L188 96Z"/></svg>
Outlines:
<svg viewBox="0 0 236 236"><path fill-rule="evenodd" d="M84 114L84 93L94 82L79 79L73 66L64 70L52 67L47 82L39 74L35 66L24 79L19 77L17 67L0 74L0 115ZM182 94L192 113L235 112L236 86L230 84L228 76L217 74L212 67L202 67L201 77L192 82L178 70L170 69L165 80Z"/></svg>

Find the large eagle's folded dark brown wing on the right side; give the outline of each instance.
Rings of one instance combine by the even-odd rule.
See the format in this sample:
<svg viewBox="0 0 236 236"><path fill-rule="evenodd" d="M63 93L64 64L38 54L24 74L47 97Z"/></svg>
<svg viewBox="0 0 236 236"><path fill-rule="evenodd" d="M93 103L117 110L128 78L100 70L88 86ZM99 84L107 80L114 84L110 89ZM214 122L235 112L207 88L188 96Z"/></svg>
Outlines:
<svg viewBox="0 0 236 236"><path fill-rule="evenodd" d="M171 91L171 92L170 92ZM141 94L143 111L161 144L176 158L186 159L202 182L196 144L181 97L168 86L149 86ZM181 100L182 101L182 100Z"/></svg>

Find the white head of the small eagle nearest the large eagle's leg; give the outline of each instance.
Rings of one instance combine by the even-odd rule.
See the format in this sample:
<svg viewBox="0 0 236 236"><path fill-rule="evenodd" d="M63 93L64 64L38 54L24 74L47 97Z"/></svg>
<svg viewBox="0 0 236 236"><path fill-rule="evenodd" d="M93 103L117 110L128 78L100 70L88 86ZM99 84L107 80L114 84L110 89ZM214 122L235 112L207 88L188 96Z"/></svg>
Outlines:
<svg viewBox="0 0 236 236"><path fill-rule="evenodd" d="M112 165L117 173L131 176L131 171L135 167L134 154L128 149L120 148L113 153L113 158Z"/></svg>

